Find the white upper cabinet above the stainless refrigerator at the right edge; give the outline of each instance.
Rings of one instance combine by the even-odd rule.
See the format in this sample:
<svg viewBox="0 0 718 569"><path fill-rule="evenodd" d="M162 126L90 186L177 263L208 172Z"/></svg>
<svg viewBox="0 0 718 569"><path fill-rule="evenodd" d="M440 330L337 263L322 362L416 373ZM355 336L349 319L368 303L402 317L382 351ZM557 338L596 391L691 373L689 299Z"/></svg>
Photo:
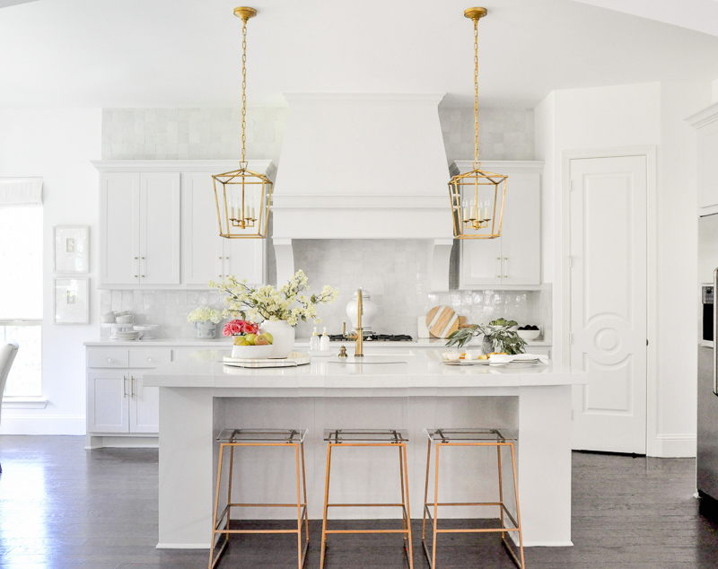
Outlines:
<svg viewBox="0 0 718 569"><path fill-rule="evenodd" d="M718 213L718 103L702 110L687 122L698 135L698 213Z"/></svg>

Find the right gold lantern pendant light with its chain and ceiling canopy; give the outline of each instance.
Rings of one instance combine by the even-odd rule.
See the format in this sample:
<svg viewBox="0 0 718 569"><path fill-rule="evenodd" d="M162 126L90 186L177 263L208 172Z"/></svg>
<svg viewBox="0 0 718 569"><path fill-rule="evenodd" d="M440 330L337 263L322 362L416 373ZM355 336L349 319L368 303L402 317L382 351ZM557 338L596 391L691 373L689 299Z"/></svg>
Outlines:
<svg viewBox="0 0 718 569"><path fill-rule="evenodd" d="M478 162L478 21L486 16L486 8L468 8L464 15L474 22L474 164L472 171L449 182L454 237L495 239L501 237L508 176L483 171Z"/></svg>

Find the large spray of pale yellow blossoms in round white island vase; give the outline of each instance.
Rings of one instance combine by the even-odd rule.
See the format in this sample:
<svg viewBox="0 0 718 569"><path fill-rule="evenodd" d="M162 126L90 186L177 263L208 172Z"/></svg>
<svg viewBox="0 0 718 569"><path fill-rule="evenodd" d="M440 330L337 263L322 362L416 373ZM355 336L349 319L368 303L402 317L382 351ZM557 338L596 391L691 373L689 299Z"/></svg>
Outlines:
<svg viewBox="0 0 718 569"><path fill-rule="evenodd" d="M209 285L224 294L225 316L241 316L250 321L286 320L296 326L299 320L319 323L317 305L334 302L339 295L339 289L325 285L320 293L308 296L305 293L309 291L308 282L300 269L278 291L272 285L250 286L246 279L238 281L233 276L221 283L210 281Z"/></svg>

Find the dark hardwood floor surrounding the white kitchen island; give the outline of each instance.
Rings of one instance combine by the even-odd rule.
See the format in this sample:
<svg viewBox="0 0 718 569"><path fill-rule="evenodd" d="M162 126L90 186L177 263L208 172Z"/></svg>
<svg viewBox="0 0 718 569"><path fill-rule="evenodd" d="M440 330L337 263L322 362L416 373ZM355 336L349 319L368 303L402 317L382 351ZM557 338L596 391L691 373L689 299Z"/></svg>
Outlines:
<svg viewBox="0 0 718 569"><path fill-rule="evenodd" d="M157 451L84 451L83 444L83 437L0 436L0 567L206 567L207 551L154 547ZM574 547L527 548L526 565L718 567L718 524L699 516L694 491L695 460L574 453ZM414 529L415 566L425 568L420 521ZM319 567L320 531L312 522L307 568ZM513 566L495 536L440 539L440 567ZM219 567L296 567L294 543L239 536ZM327 561L327 569L407 566L397 536L335 536Z"/></svg>

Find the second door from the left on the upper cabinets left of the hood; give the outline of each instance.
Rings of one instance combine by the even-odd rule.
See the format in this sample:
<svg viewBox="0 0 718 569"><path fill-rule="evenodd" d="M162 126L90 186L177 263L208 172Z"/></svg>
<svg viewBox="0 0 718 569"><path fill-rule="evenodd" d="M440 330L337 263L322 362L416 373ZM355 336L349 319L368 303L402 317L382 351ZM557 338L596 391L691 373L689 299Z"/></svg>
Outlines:
<svg viewBox="0 0 718 569"><path fill-rule="evenodd" d="M140 174L140 283L180 284L180 174Z"/></svg>

